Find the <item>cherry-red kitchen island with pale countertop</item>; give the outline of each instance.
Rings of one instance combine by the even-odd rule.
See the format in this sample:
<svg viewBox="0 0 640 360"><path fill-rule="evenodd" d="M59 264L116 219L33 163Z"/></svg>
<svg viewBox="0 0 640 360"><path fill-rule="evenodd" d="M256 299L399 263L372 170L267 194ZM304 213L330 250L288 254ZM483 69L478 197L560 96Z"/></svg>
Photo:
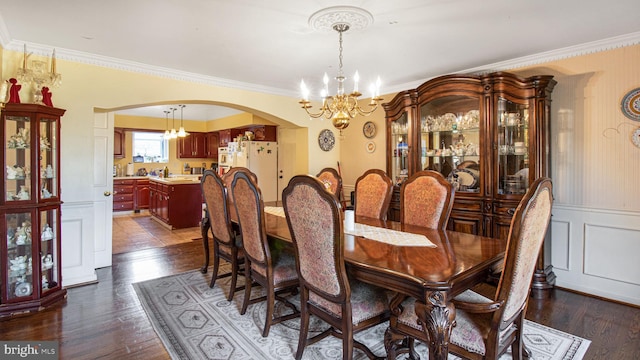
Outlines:
<svg viewBox="0 0 640 360"><path fill-rule="evenodd" d="M171 229L199 226L202 199L198 178L149 178L151 218Z"/></svg>

